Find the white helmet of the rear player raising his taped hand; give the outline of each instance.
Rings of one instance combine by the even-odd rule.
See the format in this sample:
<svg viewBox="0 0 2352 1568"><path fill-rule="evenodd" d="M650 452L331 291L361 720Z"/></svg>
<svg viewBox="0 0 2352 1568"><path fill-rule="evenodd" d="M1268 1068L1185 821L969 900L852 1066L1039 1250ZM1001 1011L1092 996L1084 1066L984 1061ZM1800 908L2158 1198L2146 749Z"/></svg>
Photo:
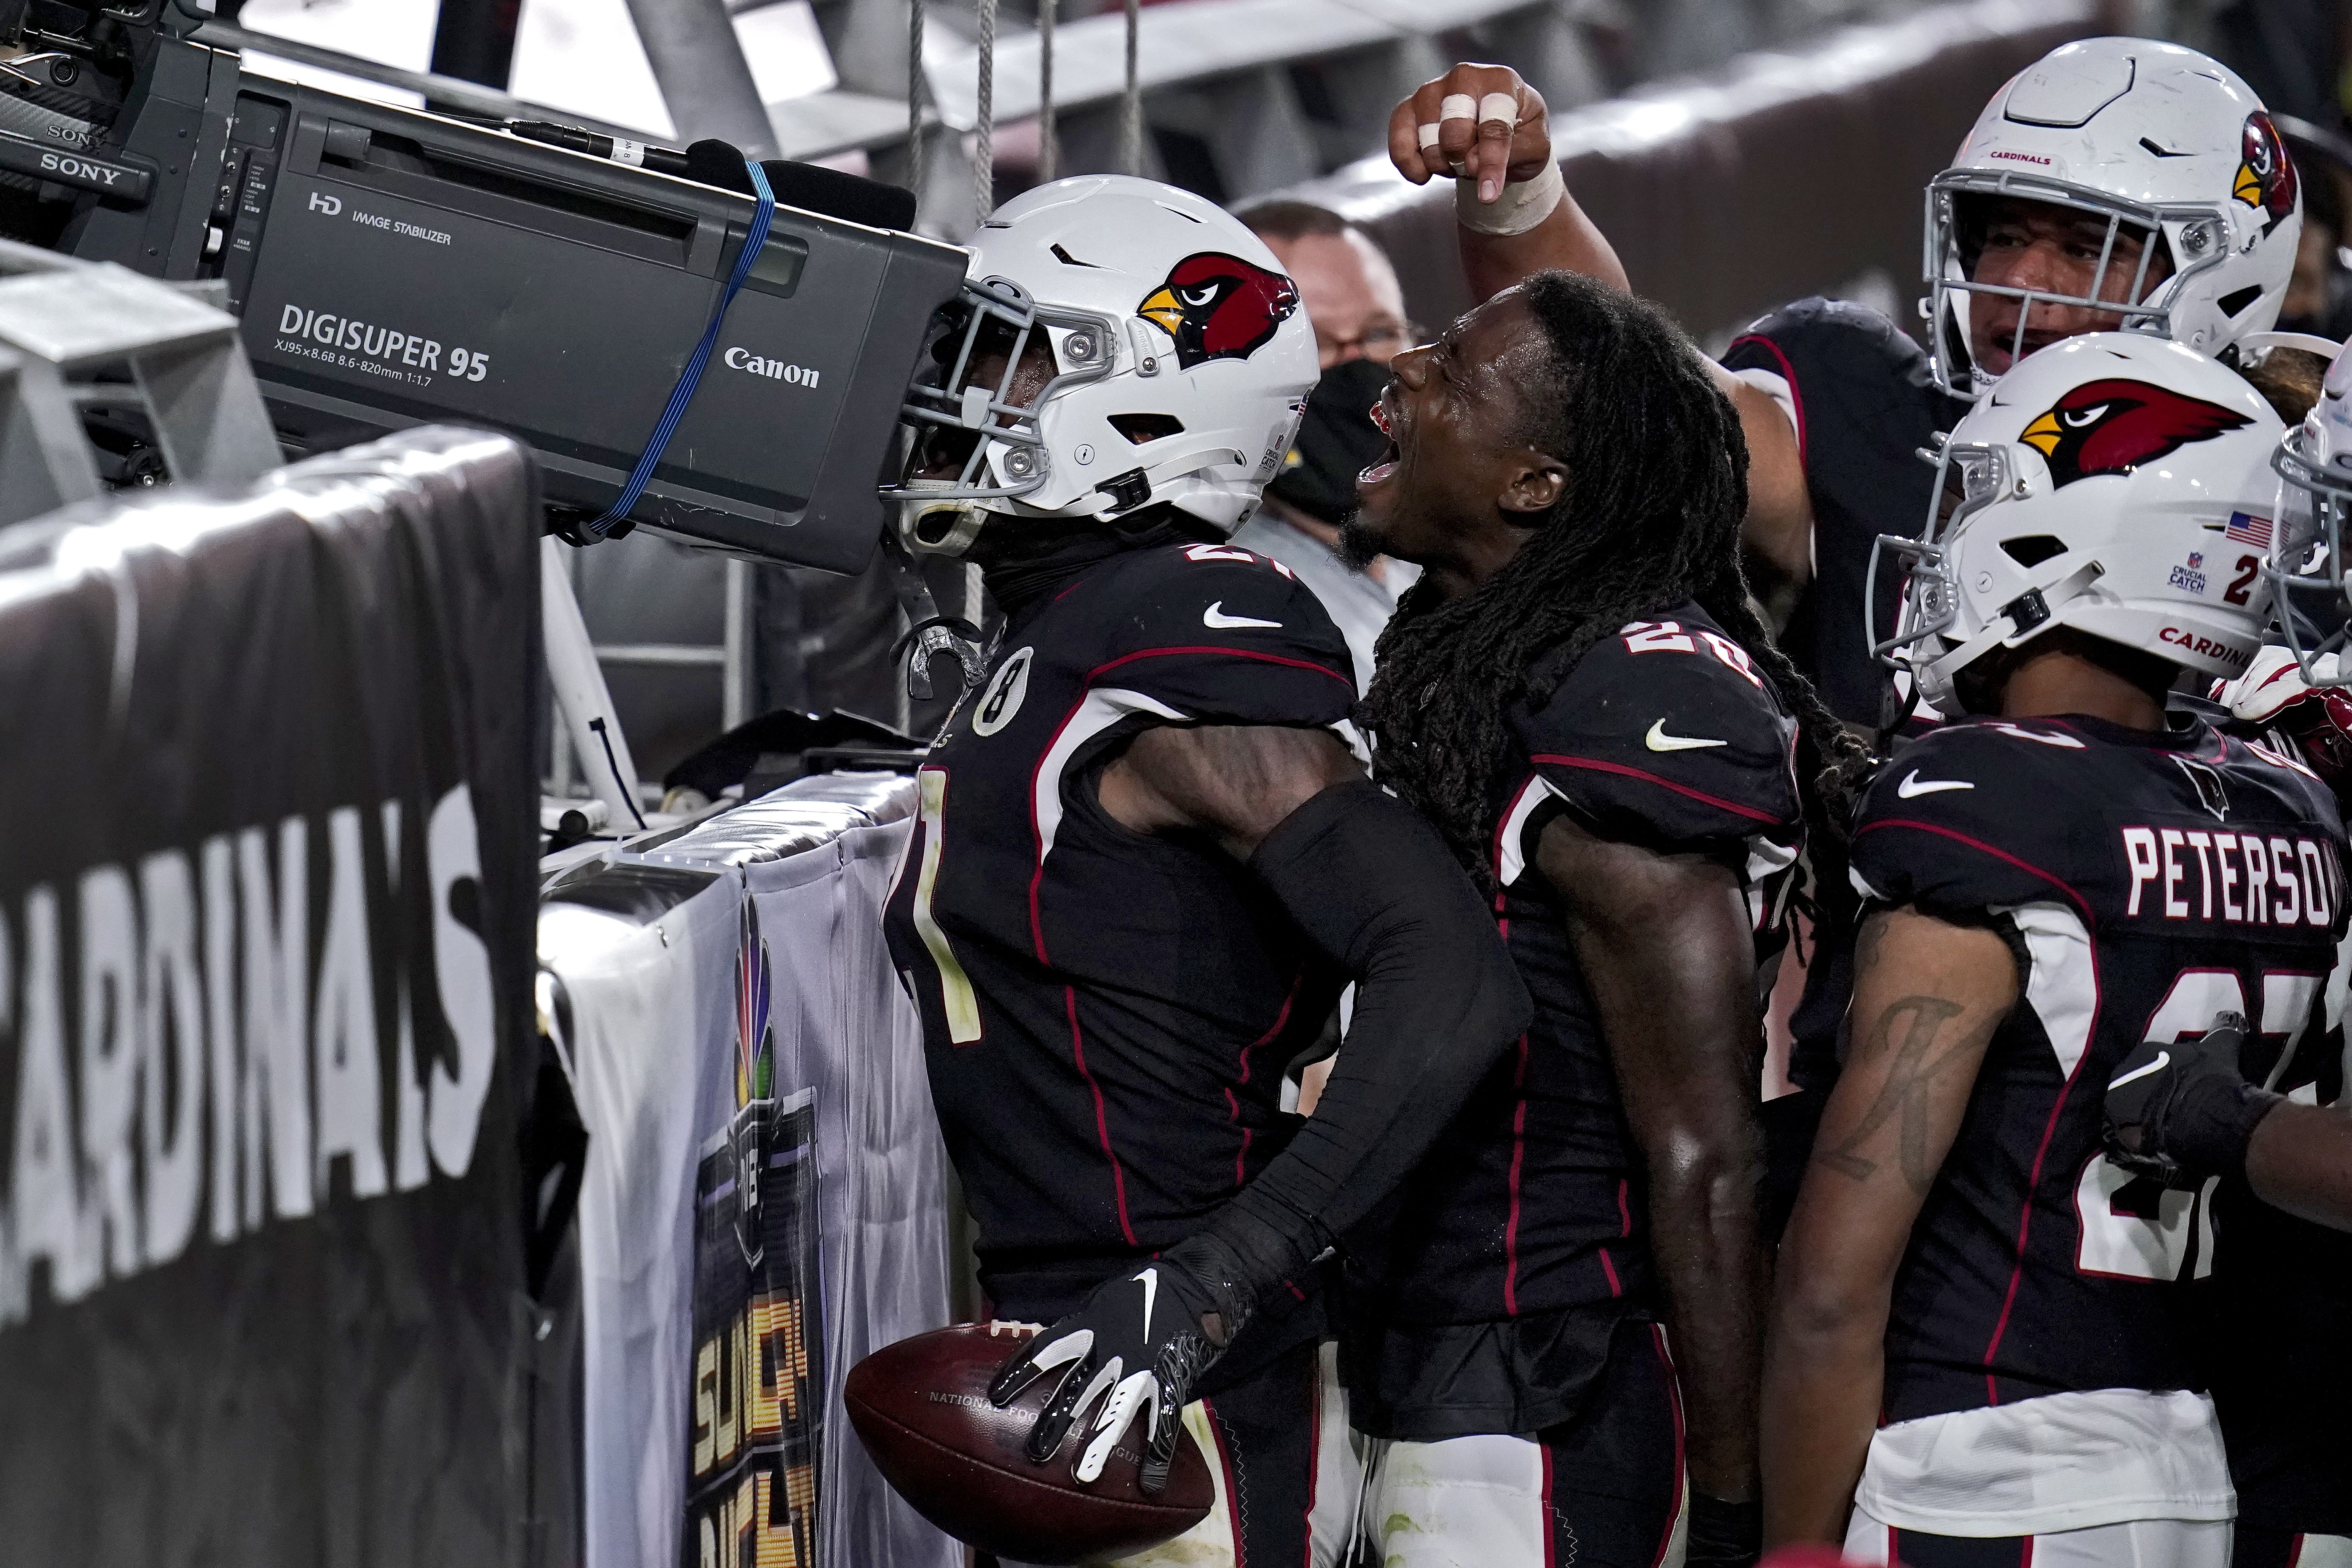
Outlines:
<svg viewBox="0 0 2352 1568"><path fill-rule="evenodd" d="M2089 294L2044 294L1969 280L1992 197L2049 202L2107 219ZM2154 244L2140 247L2131 308L2100 301L2117 235L2157 233L2173 275L2147 289ZM2147 38L2089 38L2044 54L1978 115L1952 167L1926 188L1929 362L1947 393L1973 397L1992 378L1969 353L1973 296L2018 308L2016 350L2034 303L2119 315L2218 355L2279 320L2303 235L2303 193L2279 129L2227 66Z"/></svg>

